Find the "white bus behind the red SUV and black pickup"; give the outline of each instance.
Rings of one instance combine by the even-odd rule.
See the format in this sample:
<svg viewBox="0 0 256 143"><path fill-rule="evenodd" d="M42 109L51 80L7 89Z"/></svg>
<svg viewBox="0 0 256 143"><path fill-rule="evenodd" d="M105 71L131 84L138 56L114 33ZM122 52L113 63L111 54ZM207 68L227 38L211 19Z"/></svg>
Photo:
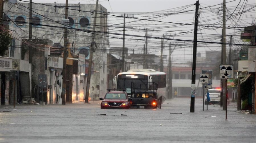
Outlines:
<svg viewBox="0 0 256 143"><path fill-rule="evenodd" d="M116 83L116 89L125 89L129 97L131 96L132 82L145 84L155 82L158 84L158 97L166 98L166 73L164 72L158 72L154 69L130 69L127 72L119 73L113 81Z"/></svg>

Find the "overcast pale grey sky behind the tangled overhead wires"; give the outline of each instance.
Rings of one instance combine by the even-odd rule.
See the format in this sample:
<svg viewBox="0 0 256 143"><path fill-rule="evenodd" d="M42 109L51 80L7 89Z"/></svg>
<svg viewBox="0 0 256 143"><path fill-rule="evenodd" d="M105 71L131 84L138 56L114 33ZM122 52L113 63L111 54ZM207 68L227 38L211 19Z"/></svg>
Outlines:
<svg viewBox="0 0 256 143"><path fill-rule="evenodd" d="M35 3L54 3L52 0L33 0ZM65 0L56 0L58 4L65 3ZM96 4L96 0L69 0L69 3L72 4ZM201 14L198 25L198 41L209 41L209 42L220 42L221 39L221 30L222 30L222 5L223 0L199 0ZM252 23L252 20L255 19L255 0L226 0L227 4L227 27L245 27L249 26ZM182 25L182 24L194 24L194 11L184 12L189 10L194 10L196 0L99 0L99 4L107 8L111 15L121 16L126 13L128 16L142 19L126 19L126 34L134 36L126 36L126 47L132 51L135 50L136 53L142 53L143 38L136 37L145 36L145 28L148 28L152 31L148 31L148 34L153 37L161 37L163 34L175 35L170 38L181 39L181 40L193 40L194 37L194 26L193 25ZM211 6L209 8L205 8ZM246 10L248 12L244 13ZM179 14L172 14L168 16L158 16L168 13L175 12L184 12ZM241 13L242 12L242 13ZM109 25L123 26L123 18L115 19L115 16L109 16L112 19L109 19ZM156 20L156 21L147 21ZM173 22L173 23L165 23ZM181 23L179 25L178 23ZM254 22L255 23L255 22ZM213 26L212 28L205 28L205 26ZM167 28L166 28L167 27ZM233 42L243 44L240 40L241 30L239 28L227 29L227 35L233 35ZM243 29L243 28L240 28ZM154 30L154 31L153 31ZM191 31L192 30L192 31ZM167 31L167 32L166 32ZM114 33L123 33L122 28L110 28L109 32ZM187 32L187 33L183 33ZM122 36L120 36L122 37ZM137 38L137 40L135 40ZM227 43L229 43L229 36L227 36ZM174 61L187 62L192 59L192 42L180 42L175 40L165 40L165 49L164 54L168 55L169 53L169 43L177 44L175 51L172 54ZM161 39L148 39L148 52L152 54L159 54L161 45ZM122 40L110 38L110 47L122 46ZM172 45L174 47L174 45ZM240 46L241 47L241 46ZM229 46L227 45L227 49ZM239 46L234 46L233 48L239 49ZM197 52L201 52L202 56L205 56L205 51L221 51L220 44L205 44L198 43Z"/></svg>

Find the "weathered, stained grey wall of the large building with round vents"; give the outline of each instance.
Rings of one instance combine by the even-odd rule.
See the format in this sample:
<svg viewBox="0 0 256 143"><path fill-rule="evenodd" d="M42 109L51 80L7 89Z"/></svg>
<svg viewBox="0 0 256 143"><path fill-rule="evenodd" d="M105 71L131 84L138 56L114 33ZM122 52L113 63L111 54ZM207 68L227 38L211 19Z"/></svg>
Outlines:
<svg viewBox="0 0 256 143"><path fill-rule="evenodd" d="M8 3L5 3L4 9L9 10L6 12L6 14L9 16L13 22L10 22L10 29L15 29L21 31L21 35L26 37L28 36L29 33L29 24L26 23L28 22L28 15L29 15L29 10L26 7L29 7L29 3L22 3L23 6L20 4L17 4L16 7L12 7L10 9L10 5ZM54 4L46 4L50 6L45 6L42 4L32 4L33 7L33 14L32 16L37 16L41 22L40 25L38 26L33 26L32 28L32 35L33 38L37 39L51 39L53 43L56 42L61 42L63 45L63 25L61 23L64 13L65 13L65 8L57 8L54 7ZM65 4L57 4L64 6ZM69 6L78 6L78 4L69 4ZM74 20L74 24L68 28L69 30L69 35L68 39L69 42L72 43L74 42L74 45L72 48L74 48L74 55L78 55L80 48L81 47L86 47L90 45L91 43L91 32L87 32L86 30L91 31L93 27L93 16L94 13L93 11L95 10L95 4L80 4L80 11L78 11L78 7L72 7L74 10L68 10L68 15L69 18L72 18ZM90 12L92 11L92 12ZM101 25L100 27L96 27L96 31L102 31L102 33L96 32L96 37L95 37L95 42L97 45L97 48L100 50L103 50L101 52L95 52L94 53L94 74L91 77L91 87L90 87L90 97L99 97L100 94L100 89L102 89L102 93L107 87L107 72L100 71L102 64L103 64L103 54L106 53L105 46L107 46L108 43L108 37L107 37L107 24L108 24L108 19L107 15L107 9L99 5L98 7L98 12L104 13L104 14L97 14L97 20L96 20L96 25ZM13 13L18 13L18 14L13 14ZM38 14L37 14L38 13ZM18 26L15 24L15 18L17 16L22 16L24 17L25 24L22 26ZM45 17L44 17L45 16ZM47 18L46 18L47 17ZM87 18L89 20L89 23L86 24L87 26L84 27L83 24L80 23L82 18ZM49 27L50 26L50 27ZM73 28L73 29L72 29ZM39 43L35 41L35 43ZM101 44L102 45L101 45ZM51 44L48 44L51 45ZM33 50L35 48L38 48L36 46L33 46ZM40 48L39 48L40 49ZM42 49L40 49L42 50ZM36 55L37 59L35 59L35 56L33 56L33 62L37 63L38 67L35 67L35 64L32 64L32 91L35 88L35 84L37 84L37 75L38 74L43 74L40 71L43 71L44 63L42 60L42 53L39 51L34 51L32 52L33 54ZM26 52L27 54L27 52ZM24 55L25 59L27 59L26 54ZM105 55L106 57L106 55ZM44 60L44 59L43 59ZM107 61L107 60L105 60ZM106 71L106 67L104 68L104 71ZM103 75L101 75L103 74ZM72 76L69 76L69 79L72 83ZM71 87L70 87L71 88ZM72 88L71 88L72 89ZM72 90L70 90L72 91ZM72 99L72 93L69 93L71 96L69 96L68 101ZM93 95L92 95L93 94Z"/></svg>

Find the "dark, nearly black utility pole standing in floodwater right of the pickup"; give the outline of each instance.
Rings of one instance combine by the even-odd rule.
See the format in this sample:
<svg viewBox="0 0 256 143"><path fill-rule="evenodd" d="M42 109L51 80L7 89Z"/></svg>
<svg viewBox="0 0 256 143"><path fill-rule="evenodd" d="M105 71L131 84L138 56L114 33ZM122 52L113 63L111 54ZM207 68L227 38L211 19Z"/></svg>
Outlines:
<svg viewBox="0 0 256 143"><path fill-rule="evenodd" d="M196 67L196 47L197 47L197 25L198 25L199 1L195 4L195 25L194 25L194 44L193 44L193 63L192 63L192 80L191 80L191 100L190 112L195 112L195 67Z"/></svg>

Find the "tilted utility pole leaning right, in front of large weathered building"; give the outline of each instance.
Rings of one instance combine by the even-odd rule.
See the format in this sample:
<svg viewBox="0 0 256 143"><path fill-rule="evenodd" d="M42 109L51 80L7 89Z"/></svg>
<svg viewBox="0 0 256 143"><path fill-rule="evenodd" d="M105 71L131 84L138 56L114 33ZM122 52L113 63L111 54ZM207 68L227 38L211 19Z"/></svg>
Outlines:
<svg viewBox="0 0 256 143"><path fill-rule="evenodd" d="M89 90L90 90L90 81L91 81L91 64L92 64L92 57L93 57L92 54L93 54L93 51L94 51L94 44L96 44L94 40L95 40L95 26L96 26L97 12L98 12L98 3L99 3L99 0L96 1L95 15L94 15L94 21L93 21L92 39L91 39L91 46L90 46L90 59L89 59L89 66L88 66L88 77L87 77L86 94L85 94L84 103L89 103Z"/></svg>

